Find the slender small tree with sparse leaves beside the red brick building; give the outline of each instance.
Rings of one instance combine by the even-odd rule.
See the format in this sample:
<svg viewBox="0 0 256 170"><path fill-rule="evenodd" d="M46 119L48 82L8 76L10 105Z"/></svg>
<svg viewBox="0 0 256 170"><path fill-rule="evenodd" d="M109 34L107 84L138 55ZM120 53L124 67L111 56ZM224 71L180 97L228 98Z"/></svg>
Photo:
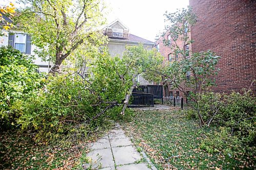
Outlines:
<svg viewBox="0 0 256 170"><path fill-rule="evenodd" d="M165 13L167 25L162 37L168 32L170 39L163 43L172 50L172 61L168 62L159 72L165 82L184 93L191 100L198 112L200 123L205 124L199 109L200 95L214 85L214 75L218 73L216 65L219 56L214 52L195 52L190 50L193 40L190 39L191 27L196 23L196 15L191 9L178 10L175 13ZM182 45L180 45L182 42ZM187 91L190 91L189 93Z"/></svg>

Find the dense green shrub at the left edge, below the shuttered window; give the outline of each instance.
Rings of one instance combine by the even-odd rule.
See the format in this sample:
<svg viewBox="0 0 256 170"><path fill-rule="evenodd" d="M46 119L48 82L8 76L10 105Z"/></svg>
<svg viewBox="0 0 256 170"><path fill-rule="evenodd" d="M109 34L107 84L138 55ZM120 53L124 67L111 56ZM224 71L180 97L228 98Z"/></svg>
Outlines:
<svg viewBox="0 0 256 170"><path fill-rule="evenodd" d="M17 100L25 100L42 87L44 79L28 56L10 46L0 47L0 119L2 125L13 124L15 113L10 109Z"/></svg>

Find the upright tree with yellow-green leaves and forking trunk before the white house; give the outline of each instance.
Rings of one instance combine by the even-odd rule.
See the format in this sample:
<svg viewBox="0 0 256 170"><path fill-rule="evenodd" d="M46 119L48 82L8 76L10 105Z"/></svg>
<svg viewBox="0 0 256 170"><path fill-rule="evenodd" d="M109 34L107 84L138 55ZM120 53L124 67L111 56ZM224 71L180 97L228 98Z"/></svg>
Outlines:
<svg viewBox="0 0 256 170"><path fill-rule="evenodd" d="M26 4L16 21L31 34L36 54L54 61L50 72L59 72L69 56L82 53L88 46L100 45L106 38L99 31L105 19L99 0L51 1L20 0Z"/></svg>

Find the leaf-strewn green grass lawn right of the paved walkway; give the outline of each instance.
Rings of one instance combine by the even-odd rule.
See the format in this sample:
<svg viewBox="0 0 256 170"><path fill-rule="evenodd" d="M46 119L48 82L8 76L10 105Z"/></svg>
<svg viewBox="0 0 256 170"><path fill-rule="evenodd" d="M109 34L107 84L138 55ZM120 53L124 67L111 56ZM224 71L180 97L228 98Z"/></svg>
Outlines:
<svg viewBox="0 0 256 170"><path fill-rule="evenodd" d="M121 125L158 169L246 168L247 158L229 158L201 150L203 132L215 129L200 128L195 120L186 119L181 112L137 111L131 122Z"/></svg>

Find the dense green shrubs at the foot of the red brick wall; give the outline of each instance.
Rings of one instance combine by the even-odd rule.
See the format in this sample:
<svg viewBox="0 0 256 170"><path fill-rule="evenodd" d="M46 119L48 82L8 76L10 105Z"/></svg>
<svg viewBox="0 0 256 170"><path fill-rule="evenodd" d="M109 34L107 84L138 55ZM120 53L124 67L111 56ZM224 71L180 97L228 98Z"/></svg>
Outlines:
<svg viewBox="0 0 256 170"><path fill-rule="evenodd" d="M219 131L205 133L201 148L209 153L221 152L225 155L242 153L251 155L255 141L256 100L250 91L244 94L232 92L220 94L205 92L200 96L199 110L206 123L219 127ZM197 116L196 110L187 110L186 116Z"/></svg>

